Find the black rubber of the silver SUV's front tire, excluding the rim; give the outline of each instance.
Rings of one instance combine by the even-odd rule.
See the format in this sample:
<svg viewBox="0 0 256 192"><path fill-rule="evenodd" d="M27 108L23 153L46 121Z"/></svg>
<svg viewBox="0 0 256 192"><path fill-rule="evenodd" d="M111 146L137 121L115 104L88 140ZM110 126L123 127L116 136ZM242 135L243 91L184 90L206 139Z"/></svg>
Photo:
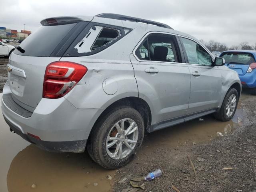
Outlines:
<svg viewBox="0 0 256 192"><path fill-rule="evenodd" d="M228 100L230 98L230 96L232 95L235 95L236 96L236 104L235 104L235 108L234 108L234 111L233 113L228 116L227 115L227 112L226 112L226 108L227 108L227 104L228 104ZM220 108L220 110L218 110L217 112L215 112L214 116L217 120L220 120L220 121L229 121L233 118L234 114L236 113L236 108L237 108L237 104L238 104L238 92L235 88L230 88L228 90L228 92L226 93L226 96L223 100L223 103L222 103L222 106Z"/></svg>

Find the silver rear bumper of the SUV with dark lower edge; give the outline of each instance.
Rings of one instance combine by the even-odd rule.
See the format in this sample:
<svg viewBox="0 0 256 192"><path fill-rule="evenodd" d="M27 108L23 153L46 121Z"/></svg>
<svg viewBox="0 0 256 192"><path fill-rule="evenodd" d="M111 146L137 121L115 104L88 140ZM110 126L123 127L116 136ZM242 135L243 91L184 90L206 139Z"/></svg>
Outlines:
<svg viewBox="0 0 256 192"><path fill-rule="evenodd" d="M5 94L10 94L8 82L4 86L3 97ZM56 152L84 152L90 131L104 110L77 109L64 97L42 98L28 118L14 112L3 99L1 108L10 128L22 138L44 150Z"/></svg>

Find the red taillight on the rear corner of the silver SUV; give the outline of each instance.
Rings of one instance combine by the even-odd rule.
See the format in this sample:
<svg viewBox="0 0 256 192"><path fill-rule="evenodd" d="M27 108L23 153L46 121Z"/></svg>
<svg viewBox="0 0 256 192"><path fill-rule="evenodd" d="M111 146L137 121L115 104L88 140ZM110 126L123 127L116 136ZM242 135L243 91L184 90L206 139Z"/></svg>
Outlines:
<svg viewBox="0 0 256 192"><path fill-rule="evenodd" d="M56 99L67 94L86 74L86 66L57 61L50 63L45 70L43 97Z"/></svg>

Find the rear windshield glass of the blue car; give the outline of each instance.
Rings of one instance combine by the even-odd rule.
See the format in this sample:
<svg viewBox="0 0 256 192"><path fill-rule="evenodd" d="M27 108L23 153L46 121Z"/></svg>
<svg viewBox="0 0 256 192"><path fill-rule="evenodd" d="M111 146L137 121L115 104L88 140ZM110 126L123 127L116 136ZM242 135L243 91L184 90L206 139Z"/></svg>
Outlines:
<svg viewBox="0 0 256 192"><path fill-rule="evenodd" d="M255 62L253 56L248 53L226 52L221 57L225 59L226 64L236 63L250 65Z"/></svg>

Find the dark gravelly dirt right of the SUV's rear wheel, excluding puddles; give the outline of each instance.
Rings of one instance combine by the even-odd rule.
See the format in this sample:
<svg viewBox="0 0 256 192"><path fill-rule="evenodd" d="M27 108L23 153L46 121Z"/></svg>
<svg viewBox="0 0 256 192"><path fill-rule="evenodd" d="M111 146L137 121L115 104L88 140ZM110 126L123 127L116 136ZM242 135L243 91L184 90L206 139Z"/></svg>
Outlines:
<svg viewBox="0 0 256 192"><path fill-rule="evenodd" d="M242 122L239 119L239 124L235 123L236 128L232 129L231 124L225 126L220 131L224 136L216 139L212 138L216 132L214 136L206 133L201 139L205 142L196 145L192 144L192 138L197 133L190 128L186 130L190 132L190 136L184 135L185 141L178 138L179 142L176 142L175 146L170 146L158 134L148 136L137 158L117 171L116 181L122 180L128 174L132 174L131 178L142 177L160 168L163 172L162 176L150 182L141 182L145 186L143 191L174 191L171 188L173 185L180 192L256 192L256 96L250 96L246 91L243 94L248 97L242 98L240 102ZM200 126L205 124L205 121L195 123ZM177 127L171 129L179 132ZM208 127L201 131L208 132ZM164 134L165 138L171 136L169 130ZM187 155L196 168L196 176ZM232 169L223 170L223 168ZM128 183L116 182L114 191L122 192L122 189L128 187L130 187Z"/></svg>

